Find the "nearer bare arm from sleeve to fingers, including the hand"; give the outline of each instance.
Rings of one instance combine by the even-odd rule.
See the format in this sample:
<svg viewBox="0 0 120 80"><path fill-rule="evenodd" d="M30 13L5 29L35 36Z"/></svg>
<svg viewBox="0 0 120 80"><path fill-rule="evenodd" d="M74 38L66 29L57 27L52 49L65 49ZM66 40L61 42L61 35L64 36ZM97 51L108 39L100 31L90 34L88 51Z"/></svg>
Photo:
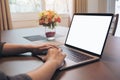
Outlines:
<svg viewBox="0 0 120 80"><path fill-rule="evenodd" d="M55 71L61 67L65 56L61 49L51 47L44 57L46 62L39 68L27 73L27 75L29 75L32 80L51 80Z"/></svg>

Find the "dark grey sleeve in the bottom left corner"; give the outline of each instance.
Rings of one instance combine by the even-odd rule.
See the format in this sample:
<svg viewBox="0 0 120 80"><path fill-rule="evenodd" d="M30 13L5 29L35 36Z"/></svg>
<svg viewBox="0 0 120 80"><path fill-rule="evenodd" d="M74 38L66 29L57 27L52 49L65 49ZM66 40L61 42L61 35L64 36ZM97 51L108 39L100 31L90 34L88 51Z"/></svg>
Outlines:
<svg viewBox="0 0 120 80"><path fill-rule="evenodd" d="M0 80L32 80L32 79L26 74L7 76L3 72L0 72Z"/></svg>

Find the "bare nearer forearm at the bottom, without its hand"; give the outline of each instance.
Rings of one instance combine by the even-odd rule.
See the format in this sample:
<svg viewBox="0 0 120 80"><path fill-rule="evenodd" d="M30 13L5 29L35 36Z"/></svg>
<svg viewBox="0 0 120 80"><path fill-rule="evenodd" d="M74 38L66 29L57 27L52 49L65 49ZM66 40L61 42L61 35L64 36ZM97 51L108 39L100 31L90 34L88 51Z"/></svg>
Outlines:
<svg viewBox="0 0 120 80"><path fill-rule="evenodd" d="M31 71L28 75L32 78L32 80L51 80L54 72L57 69L57 64L53 62L46 62L42 67Z"/></svg>

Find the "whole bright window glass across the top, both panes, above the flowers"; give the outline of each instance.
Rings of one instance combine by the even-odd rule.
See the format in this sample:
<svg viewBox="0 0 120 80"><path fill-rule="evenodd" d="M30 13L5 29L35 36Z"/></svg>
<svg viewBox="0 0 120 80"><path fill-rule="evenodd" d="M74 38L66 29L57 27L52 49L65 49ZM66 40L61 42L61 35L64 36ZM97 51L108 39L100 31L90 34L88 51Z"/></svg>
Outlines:
<svg viewBox="0 0 120 80"><path fill-rule="evenodd" d="M39 12L41 10L68 12L68 0L9 0L9 3L12 13Z"/></svg>

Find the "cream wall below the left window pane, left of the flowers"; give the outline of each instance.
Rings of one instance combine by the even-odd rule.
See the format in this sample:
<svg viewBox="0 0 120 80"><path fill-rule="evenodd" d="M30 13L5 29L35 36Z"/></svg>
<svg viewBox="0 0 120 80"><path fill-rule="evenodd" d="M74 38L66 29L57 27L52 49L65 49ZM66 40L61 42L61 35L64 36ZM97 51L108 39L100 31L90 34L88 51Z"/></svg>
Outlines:
<svg viewBox="0 0 120 80"><path fill-rule="evenodd" d="M38 13L12 14L13 29L38 26Z"/></svg>

